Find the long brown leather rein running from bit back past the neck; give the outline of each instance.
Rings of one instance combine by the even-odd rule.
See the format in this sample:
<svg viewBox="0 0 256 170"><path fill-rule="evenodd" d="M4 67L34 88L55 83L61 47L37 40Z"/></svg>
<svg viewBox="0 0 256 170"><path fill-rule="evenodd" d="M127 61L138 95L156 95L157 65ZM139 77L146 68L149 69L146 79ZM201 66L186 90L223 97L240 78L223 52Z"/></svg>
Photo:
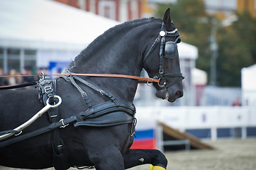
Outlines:
<svg viewBox="0 0 256 170"><path fill-rule="evenodd" d="M16 76L0 76L0 78L9 78L9 77L36 77L42 76L42 74L34 74L34 75L16 75ZM138 79L139 84L148 84L148 83L158 83L159 79L153 79L148 77L136 77L125 74L93 74L93 73L68 73L68 74L44 74L44 76L87 76L87 77L116 77L116 78L126 78L126 79ZM0 86L0 87L8 87L8 86Z"/></svg>

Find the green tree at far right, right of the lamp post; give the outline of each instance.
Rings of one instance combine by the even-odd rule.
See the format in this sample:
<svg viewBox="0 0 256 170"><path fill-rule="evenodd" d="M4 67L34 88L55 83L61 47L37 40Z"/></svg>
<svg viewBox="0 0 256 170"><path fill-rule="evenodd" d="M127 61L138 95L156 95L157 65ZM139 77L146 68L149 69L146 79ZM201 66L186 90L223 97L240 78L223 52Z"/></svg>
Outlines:
<svg viewBox="0 0 256 170"><path fill-rule="evenodd" d="M221 86L240 86L240 70L256 62L256 20L249 13L237 16L231 26L218 31L217 70Z"/></svg>

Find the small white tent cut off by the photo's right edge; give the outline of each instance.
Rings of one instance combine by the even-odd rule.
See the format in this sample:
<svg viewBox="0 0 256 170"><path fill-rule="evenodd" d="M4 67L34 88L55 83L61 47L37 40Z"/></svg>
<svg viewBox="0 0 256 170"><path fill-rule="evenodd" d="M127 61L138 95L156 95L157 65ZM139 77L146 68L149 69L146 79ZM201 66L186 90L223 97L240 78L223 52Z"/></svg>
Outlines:
<svg viewBox="0 0 256 170"><path fill-rule="evenodd" d="M241 69L243 105L256 105L256 64Z"/></svg>

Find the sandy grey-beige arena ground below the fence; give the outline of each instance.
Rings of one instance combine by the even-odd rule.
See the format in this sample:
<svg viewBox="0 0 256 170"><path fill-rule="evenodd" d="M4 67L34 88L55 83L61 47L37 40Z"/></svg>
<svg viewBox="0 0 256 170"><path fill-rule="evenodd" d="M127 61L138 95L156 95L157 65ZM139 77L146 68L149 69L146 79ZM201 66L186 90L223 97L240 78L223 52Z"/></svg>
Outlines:
<svg viewBox="0 0 256 170"><path fill-rule="evenodd" d="M168 170L256 170L256 138L206 142L214 150L165 152ZM130 170L148 170L149 165ZM0 170L14 170L0 166ZM48 169L52 170L52 169ZM73 170L73 169L72 169Z"/></svg>

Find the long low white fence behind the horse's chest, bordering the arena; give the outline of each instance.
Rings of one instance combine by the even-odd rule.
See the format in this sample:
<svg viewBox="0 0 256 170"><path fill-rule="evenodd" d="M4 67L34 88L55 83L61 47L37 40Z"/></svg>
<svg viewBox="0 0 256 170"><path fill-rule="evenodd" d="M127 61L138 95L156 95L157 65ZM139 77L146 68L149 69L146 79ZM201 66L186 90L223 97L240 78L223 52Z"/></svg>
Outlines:
<svg viewBox="0 0 256 170"><path fill-rule="evenodd" d="M211 140L218 128L241 128L246 138L247 128L256 128L256 106L138 107L136 118L138 129L154 128L157 120L180 131L211 129Z"/></svg>

